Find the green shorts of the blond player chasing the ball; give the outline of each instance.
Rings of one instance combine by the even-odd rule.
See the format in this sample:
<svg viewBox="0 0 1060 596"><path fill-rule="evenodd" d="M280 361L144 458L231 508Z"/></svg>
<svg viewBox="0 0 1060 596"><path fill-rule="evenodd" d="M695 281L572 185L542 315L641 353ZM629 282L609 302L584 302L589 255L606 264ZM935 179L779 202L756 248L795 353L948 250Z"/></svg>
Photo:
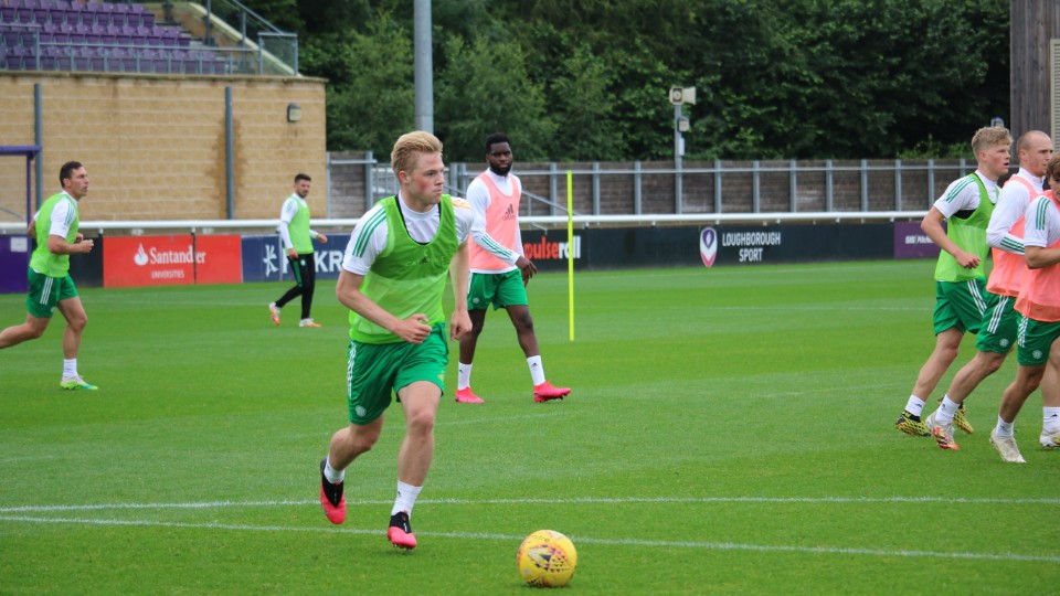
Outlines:
<svg viewBox="0 0 1060 596"><path fill-rule="evenodd" d="M350 422L368 424L390 407L391 395L416 381L434 383L445 393L449 347L445 323L437 323L423 343L350 341L346 368Z"/></svg>

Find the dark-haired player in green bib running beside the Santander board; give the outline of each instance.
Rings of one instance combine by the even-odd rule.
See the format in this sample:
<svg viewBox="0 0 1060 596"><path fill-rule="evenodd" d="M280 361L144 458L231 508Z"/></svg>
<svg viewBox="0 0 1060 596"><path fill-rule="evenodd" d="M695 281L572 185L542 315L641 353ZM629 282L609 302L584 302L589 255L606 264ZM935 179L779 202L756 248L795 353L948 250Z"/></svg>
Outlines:
<svg viewBox="0 0 1060 596"><path fill-rule="evenodd" d="M0 349L17 345L44 334L57 308L66 319L63 332L64 390L96 390L77 373L77 351L81 336L88 322L77 288L70 277L70 255L88 253L93 241L77 231L77 203L88 194L88 173L76 161L63 164L59 171L63 191L44 201L30 221L26 233L36 240L26 272L29 296L25 299L25 322L0 331Z"/></svg>

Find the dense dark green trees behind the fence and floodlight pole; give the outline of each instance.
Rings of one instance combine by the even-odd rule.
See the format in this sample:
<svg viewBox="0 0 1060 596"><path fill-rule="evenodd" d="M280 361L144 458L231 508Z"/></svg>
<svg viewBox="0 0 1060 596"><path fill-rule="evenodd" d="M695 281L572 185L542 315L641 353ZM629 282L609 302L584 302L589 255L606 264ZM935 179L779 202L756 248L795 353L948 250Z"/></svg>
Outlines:
<svg viewBox="0 0 1060 596"><path fill-rule="evenodd" d="M411 47L411 2L293 2L252 6L305 33L303 72L338 87L329 149L392 142L393 117L351 109L378 103L351 95L348 75L382 70L412 89L407 55L373 51ZM478 161L497 128L523 159L671 159L674 85L698 91L690 159L891 158L966 142L1008 114L1005 0L434 0L432 14L451 160Z"/></svg>

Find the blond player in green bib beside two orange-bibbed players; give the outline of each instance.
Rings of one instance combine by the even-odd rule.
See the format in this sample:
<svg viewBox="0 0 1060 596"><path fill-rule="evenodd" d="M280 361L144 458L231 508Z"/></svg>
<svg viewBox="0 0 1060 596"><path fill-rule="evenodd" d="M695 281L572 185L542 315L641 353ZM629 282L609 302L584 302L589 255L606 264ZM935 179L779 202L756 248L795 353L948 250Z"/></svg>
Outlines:
<svg viewBox="0 0 1060 596"><path fill-rule="evenodd" d="M997 204L997 179L1008 173L1011 145L1005 128L976 131L972 138L975 172L953 181L921 223L924 234L941 248L935 265L935 348L894 423L908 435L931 434L921 421L924 403L957 358L965 333L978 333L984 312L997 300L986 291L986 228Z"/></svg>

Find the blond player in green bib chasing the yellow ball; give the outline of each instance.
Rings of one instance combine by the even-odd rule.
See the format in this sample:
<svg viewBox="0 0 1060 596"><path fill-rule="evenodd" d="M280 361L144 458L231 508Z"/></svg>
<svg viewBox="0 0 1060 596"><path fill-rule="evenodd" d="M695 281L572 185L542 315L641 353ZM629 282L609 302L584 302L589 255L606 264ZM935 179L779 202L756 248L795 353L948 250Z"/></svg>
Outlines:
<svg viewBox="0 0 1060 596"><path fill-rule="evenodd" d="M349 426L331 437L320 461L320 504L331 523L346 520L346 468L379 440L392 395L404 411L398 454L398 498L386 538L414 549L410 517L434 457L434 421L445 387L448 345L442 298L453 283L449 337L470 330L467 201L442 193L442 142L415 131L394 143L400 191L364 214L350 235L336 285L350 309L346 369Z"/></svg>

